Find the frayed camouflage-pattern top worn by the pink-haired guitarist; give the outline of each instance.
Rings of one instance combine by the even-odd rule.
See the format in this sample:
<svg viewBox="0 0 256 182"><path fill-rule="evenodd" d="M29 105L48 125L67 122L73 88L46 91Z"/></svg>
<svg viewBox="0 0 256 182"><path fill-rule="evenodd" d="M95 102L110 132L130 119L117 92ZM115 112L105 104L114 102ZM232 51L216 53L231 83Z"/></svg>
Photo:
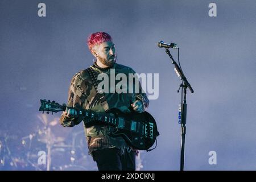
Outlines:
<svg viewBox="0 0 256 182"><path fill-rule="evenodd" d="M96 63L94 63L90 67L92 67L97 74L106 73L108 76L110 75L110 68L100 68L97 66ZM133 69L117 63L115 63L111 69L112 72L114 69L115 75L117 75L118 73L124 73L125 75L127 75L127 78L129 73L135 73ZM118 82L119 81L115 81L114 85L116 85ZM142 93L142 88L139 81L138 84L140 90L139 93L105 93L105 98L108 102L109 109L118 108L123 113L130 112L130 102L134 102L135 100L141 100L143 103L143 108L146 109L148 107L149 101L146 93ZM110 86L109 89L111 89ZM67 106L75 107L76 109L88 109L97 112L105 112L104 108L101 106L99 98L97 97L96 89L93 87L92 81L90 80L89 74L86 69L76 73L76 75L73 76L68 91ZM72 119L65 118L62 114L60 117L60 123L65 127L73 127L75 125L78 125L81 121L83 121L83 119L84 118L82 117ZM110 127L111 126L102 125L85 127L86 141L89 148L88 153L90 155L92 155L92 151L101 150L104 148L117 147L121 149L121 152L123 152L125 148L129 148L123 138L114 138L108 135Z"/></svg>

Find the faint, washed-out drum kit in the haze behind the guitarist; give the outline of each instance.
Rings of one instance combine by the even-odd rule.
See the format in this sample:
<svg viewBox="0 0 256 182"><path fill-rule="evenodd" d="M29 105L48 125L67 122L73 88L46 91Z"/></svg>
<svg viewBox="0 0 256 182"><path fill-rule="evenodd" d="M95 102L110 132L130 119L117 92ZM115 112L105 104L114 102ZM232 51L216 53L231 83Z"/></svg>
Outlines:
<svg viewBox="0 0 256 182"><path fill-rule="evenodd" d="M84 130L63 127L58 119L49 121L47 117L38 115L42 123L34 133L22 138L1 136L0 131L0 170L97 170L87 154Z"/></svg>

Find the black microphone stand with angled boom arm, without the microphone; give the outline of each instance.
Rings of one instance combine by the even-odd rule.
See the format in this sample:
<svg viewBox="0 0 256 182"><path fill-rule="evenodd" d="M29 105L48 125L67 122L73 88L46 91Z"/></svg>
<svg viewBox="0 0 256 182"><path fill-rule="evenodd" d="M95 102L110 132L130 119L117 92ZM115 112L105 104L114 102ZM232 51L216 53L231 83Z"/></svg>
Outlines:
<svg viewBox="0 0 256 182"><path fill-rule="evenodd" d="M173 59L170 51L168 48L166 48L167 55L171 58L172 64L174 64L174 70L177 73L177 75L181 78L182 84L180 84L180 88L183 88L184 90L184 98L183 93L181 92L181 99L183 99L183 103L181 103L181 151L180 151L180 171L184 171L184 154L185 154L185 134L186 134L186 120L187 120L187 100L186 100L186 94L187 94L187 88L191 91L191 93L194 92L191 85L189 84L187 78L184 76L183 72L181 71L179 65L175 62ZM180 90L179 88L179 90ZM179 92L179 90L177 92Z"/></svg>

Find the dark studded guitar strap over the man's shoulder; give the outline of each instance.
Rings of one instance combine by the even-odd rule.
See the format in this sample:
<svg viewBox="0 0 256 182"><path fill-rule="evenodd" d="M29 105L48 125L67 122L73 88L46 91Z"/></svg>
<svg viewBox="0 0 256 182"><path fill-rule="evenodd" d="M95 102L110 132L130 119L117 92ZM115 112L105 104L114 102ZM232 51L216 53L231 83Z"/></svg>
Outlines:
<svg viewBox="0 0 256 182"><path fill-rule="evenodd" d="M89 73L90 80L92 80L93 86L97 92L97 96L100 99L101 106L104 108L105 111L108 111L109 105L106 101L105 94L102 92L102 90L98 90L97 73L93 70L92 67L87 68L86 71Z"/></svg>

